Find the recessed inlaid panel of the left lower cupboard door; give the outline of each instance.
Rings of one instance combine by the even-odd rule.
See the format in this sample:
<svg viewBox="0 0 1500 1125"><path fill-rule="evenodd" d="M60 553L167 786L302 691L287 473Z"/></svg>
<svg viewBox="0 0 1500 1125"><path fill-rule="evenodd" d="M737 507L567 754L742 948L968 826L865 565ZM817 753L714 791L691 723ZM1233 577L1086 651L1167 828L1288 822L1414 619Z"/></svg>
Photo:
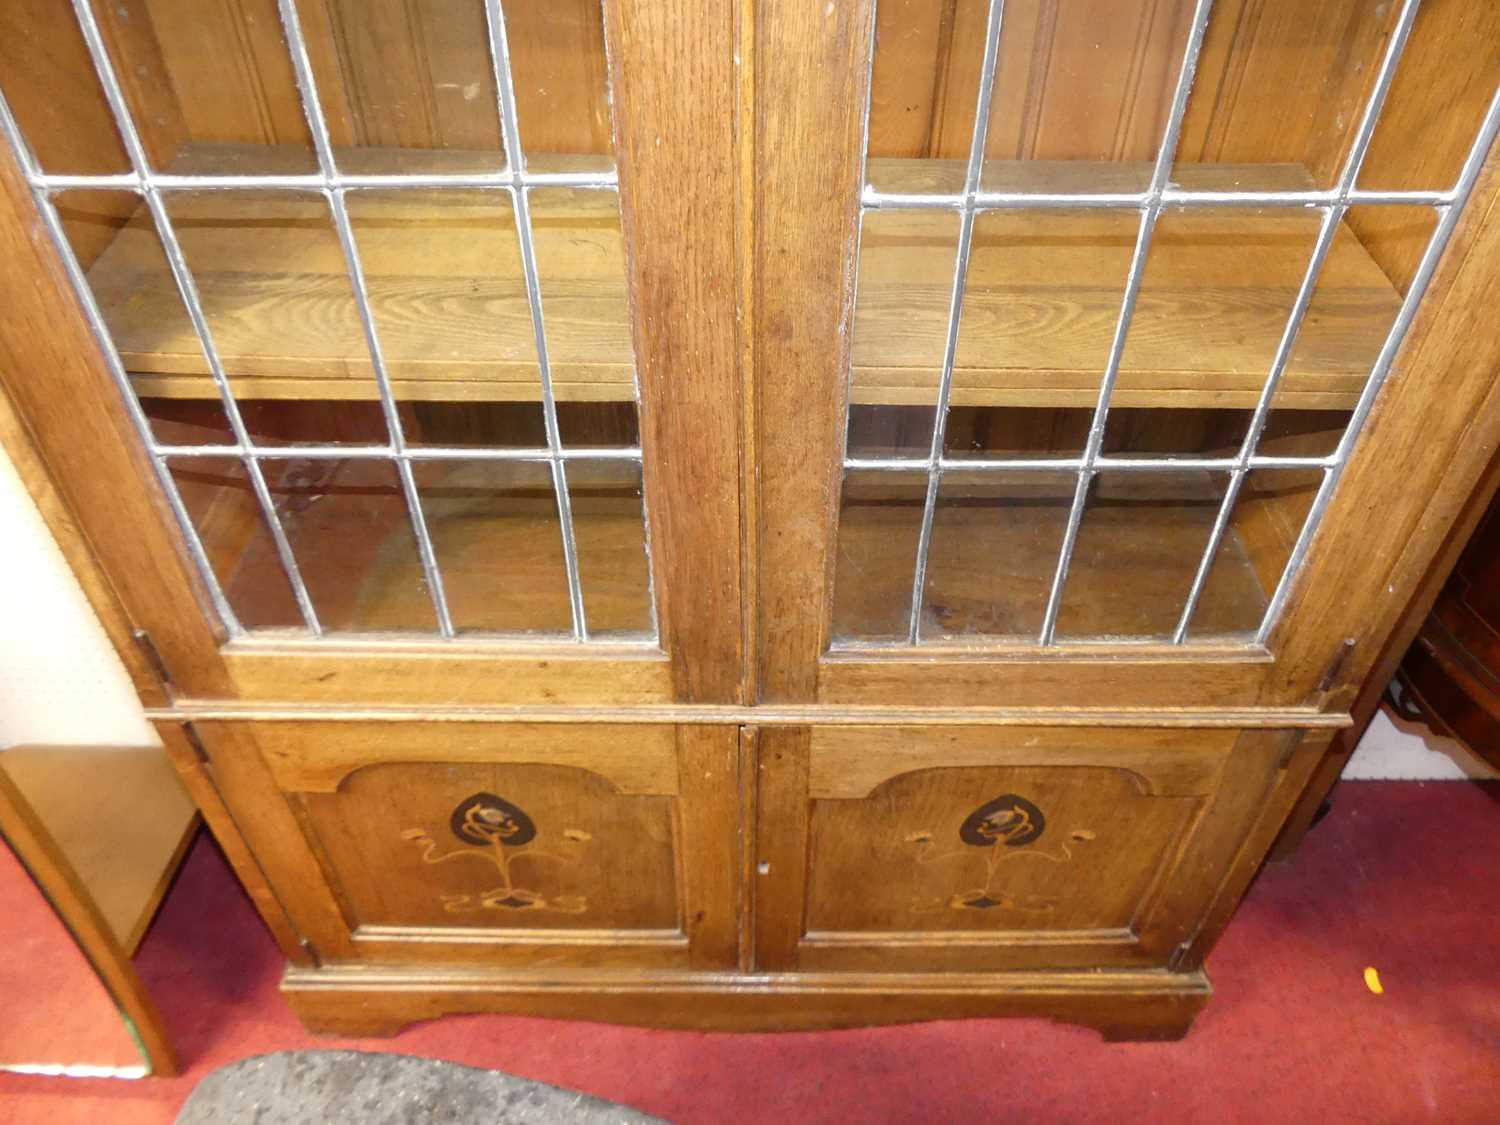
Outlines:
<svg viewBox="0 0 1500 1125"><path fill-rule="evenodd" d="M302 802L356 927L680 928L672 800L588 770L382 764Z"/></svg>

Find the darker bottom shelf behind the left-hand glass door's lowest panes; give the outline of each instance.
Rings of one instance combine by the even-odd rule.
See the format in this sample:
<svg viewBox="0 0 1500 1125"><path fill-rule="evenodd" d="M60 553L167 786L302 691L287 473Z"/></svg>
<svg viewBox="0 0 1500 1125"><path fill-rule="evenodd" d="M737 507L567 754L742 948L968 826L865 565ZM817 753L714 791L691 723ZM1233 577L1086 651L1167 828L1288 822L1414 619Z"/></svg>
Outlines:
<svg viewBox="0 0 1500 1125"><path fill-rule="evenodd" d="M177 480L242 621L252 628L298 627L243 470L189 464ZM417 466L416 480L458 628L566 638L567 572L546 468L428 462ZM279 465L267 465L267 482L324 628L435 630L422 560L388 466L322 462L321 476L288 483ZM639 471L622 462L574 465L568 474L584 608L596 636L644 636L651 626L639 489Z"/></svg>

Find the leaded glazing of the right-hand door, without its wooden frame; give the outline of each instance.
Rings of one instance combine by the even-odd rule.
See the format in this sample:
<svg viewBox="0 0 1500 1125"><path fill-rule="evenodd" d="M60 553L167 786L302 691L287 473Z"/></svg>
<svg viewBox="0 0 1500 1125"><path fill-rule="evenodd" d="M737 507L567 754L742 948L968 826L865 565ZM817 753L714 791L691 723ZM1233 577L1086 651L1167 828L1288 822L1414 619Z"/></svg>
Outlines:
<svg viewBox="0 0 1500 1125"><path fill-rule="evenodd" d="M972 30L976 4L960 8L956 18ZM1222 69L1226 34L1210 21L1210 0L1184 0L1176 9L1149 24L1155 45L1148 45L1148 58L1158 60L1162 88L1170 90L1155 108L1131 102L1125 80L1112 70L1116 58L1098 54L1107 28L1072 27L1066 6L1056 6L1058 22L1047 26L1052 63L1072 80L1058 87L1059 99L1125 105L1134 117L1119 126L1124 134L1156 138L1149 147L1128 141L1126 148L1137 144L1134 152L1101 160L1102 153L1086 152L1088 136L1053 136L1053 150L1044 152L1047 138L1036 140L1036 130L1046 123L1036 122L1047 108L1036 108L1036 87L1023 88L1058 81L1023 74L1032 50L1026 36L1041 32L1018 12L1017 48L1008 51L1011 16L1004 0L988 0L982 60L976 44L957 39L946 58L944 88L976 90L972 116L952 111L960 128L970 129L962 171L952 130L939 135L938 124L915 153L926 159L891 154L892 146L910 148L909 138L891 140L900 108L891 88L898 52L915 57L915 48L898 36L891 38L894 46L882 42L878 9L836 648L1264 645L1275 627L1494 140L1500 99L1491 100L1456 182L1413 188L1418 177L1382 168L1378 183L1402 186L1362 186L1402 52L1413 27L1420 28L1419 0L1406 0L1389 16L1372 16L1389 18L1389 26L1366 36L1368 90L1348 117L1336 165L1324 160L1326 168L1311 174L1290 164L1234 165L1240 158L1233 153L1209 152L1202 123L1194 126L1194 152L1185 153L1180 140L1197 70L1200 63ZM890 58L882 46L892 51ZM978 64L972 75L962 70L966 57ZM1210 84L1222 81L1218 74ZM1335 117L1320 110L1311 128L1341 128ZM1078 122L1072 126L1086 132ZM1008 146L1020 146L1020 159ZM1389 153L1383 159L1389 164ZM1116 230L1124 224L1104 225L1106 216L1130 213L1130 236ZM1377 213L1432 216L1408 276L1386 280L1350 232L1350 224L1377 224ZM920 216L938 224L944 214L958 220L957 246L946 258L946 336L940 369L922 380L921 364L902 356L932 334L936 288L928 274L944 250L940 228ZM910 218L890 222L897 216ZM1110 284L1116 258L1124 280L1113 282L1108 327L1101 286ZM1264 288L1233 288L1260 284L1256 279L1226 276L1257 264L1268 276L1281 270L1276 300ZM1272 314L1280 326L1274 332ZM1209 368L1224 372L1218 384L1186 384L1191 372L1174 374L1174 366L1192 368L1200 352L1220 363ZM1354 356L1362 356L1358 374L1348 366ZM1260 372L1254 387L1244 381L1252 370ZM1347 423L1340 420L1320 447L1314 430L1332 424L1320 420L1338 418L1328 411L1346 402ZM1083 422L1076 416L1086 405ZM909 495L914 472L926 477L920 501ZM882 489L882 474L891 488ZM1060 474L1072 482L1062 508ZM1296 500L1268 502L1278 496ZM1264 519L1257 513L1272 507L1276 519L1293 513L1298 520L1287 544L1246 554L1240 522ZM870 528L884 530L879 561ZM1080 531L1086 579L1074 574ZM903 544L910 554L897 558ZM1038 567L1046 556L1053 564L1042 597ZM892 636L888 606L878 610L866 604L868 597L842 588L873 582L882 564L904 564L912 574L909 600L902 602L904 639ZM1128 584L1116 584L1112 608L1108 574L1126 570L1146 585L1131 594ZM886 579L882 572L880 588L890 591ZM1071 596L1074 580L1088 591ZM1149 608L1142 591L1152 598Z"/></svg>

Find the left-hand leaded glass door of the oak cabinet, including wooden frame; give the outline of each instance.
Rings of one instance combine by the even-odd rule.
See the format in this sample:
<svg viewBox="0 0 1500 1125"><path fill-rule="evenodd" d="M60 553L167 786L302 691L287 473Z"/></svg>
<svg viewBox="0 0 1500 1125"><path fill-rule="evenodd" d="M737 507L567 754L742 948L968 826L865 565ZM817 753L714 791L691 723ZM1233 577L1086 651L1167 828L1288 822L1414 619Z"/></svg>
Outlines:
<svg viewBox="0 0 1500 1125"><path fill-rule="evenodd" d="M660 94L687 48L626 8L8 4L0 124L96 338L87 410L128 416L132 504L201 594L132 606L178 690L732 694L698 640L720 608L674 636L662 588L738 570L698 538L738 519L735 454L688 417L732 369L678 356L720 310L662 306L714 266L705 200L663 186L711 189L732 142Z"/></svg>

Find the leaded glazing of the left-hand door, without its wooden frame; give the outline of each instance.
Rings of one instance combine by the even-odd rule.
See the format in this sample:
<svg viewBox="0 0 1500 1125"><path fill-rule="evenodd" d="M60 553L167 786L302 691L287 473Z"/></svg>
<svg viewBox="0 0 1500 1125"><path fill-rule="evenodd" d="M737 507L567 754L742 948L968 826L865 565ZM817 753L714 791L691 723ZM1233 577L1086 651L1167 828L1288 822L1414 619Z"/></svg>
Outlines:
<svg viewBox="0 0 1500 1125"><path fill-rule="evenodd" d="M338 4L312 12L278 0L276 9L290 88L268 111L272 144L158 152L158 123L122 86L90 0L74 0L74 14L129 171L54 172L0 102L0 124L226 630L300 621L296 632L314 638L394 630L654 640L650 567L630 558L645 537L627 526L645 513L602 14L592 28L556 28L579 39L578 51L514 68L500 0L426 16L438 21L426 38L384 44L392 50L376 52L378 64L362 56L374 14L356 12L351 22ZM530 40L538 28L554 32L546 10L508 15ZM344 36L338 69L321 39L309 51L310 36L328 34L327 20ZM170 34L164 42L170 51ZM390 86L420 72L402 69L404 52L420 51L456 62L430 76L430 88ZM390 88L376 96L380 82ZM298 104L300 122L282 112ZM142 208L118 246L82 244L90 224L102 226L104 190ZM483 216L486 200L494 220ZM64 214L60 202L70 204ZM308 240L320 225L324 244ZM438 249L446 225L456 238ZM516 249L478 252L496 236ZM142 274L140 264L153 258L165 266ZM246 273L255 261L264 272ZM448 272L423 273L432 267ZM270 288L278 278L280 291ZM142 320L142 300L160 312ZM178 330L171 339L186 346L162 357L172 303L190 332ZM255 324L252 306L312 320ZM330 315L342 334L326 332ZM216 486L195 462L216 470ZM616 462L624 465L610 468ZM579 518L570 465L590 494ZM532 528L537 471L555 512ZM438 516L424 494L441 498ZM225 504L262 530L238 550L224 540ZM398 508L404 518L393 522ZM526 566L507 570L518 552L506 546L506 536L536 546L549 522L561 549L531 554L560 567L562 621L543 608L528 615L524 597L520 609L454 612L496 590L524 592L507 582L550 580ZM580 542L596 567L588 573ZM292 621L279 580L240 573L252 566L284 573ZM363 597L382 602L363 606Z"/></svg>

